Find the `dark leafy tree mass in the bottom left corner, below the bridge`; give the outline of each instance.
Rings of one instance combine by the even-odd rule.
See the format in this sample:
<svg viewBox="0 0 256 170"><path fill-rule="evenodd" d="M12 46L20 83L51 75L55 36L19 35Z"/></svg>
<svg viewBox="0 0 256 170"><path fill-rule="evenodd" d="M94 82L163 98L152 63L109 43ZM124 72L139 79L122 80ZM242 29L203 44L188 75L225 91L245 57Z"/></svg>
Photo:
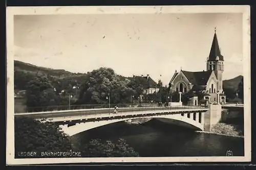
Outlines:
<svg viewBox="0 0 256 170"><path fill-rule="evenodd" d="M15 157L18 157L18 152L24 151L40 153L71 150L69 136L58 125L27 117L14 118L14 140Z"/></svg>

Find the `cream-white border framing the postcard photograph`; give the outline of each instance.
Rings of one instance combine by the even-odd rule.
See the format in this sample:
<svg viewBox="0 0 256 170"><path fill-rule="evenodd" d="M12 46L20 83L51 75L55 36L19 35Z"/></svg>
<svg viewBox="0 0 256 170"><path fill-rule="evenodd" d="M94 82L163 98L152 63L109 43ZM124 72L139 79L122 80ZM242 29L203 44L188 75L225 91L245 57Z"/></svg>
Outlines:
<svg viewBox="0 0 256 170"><path fill-rule="evenodd" d="M128 14L128 13L243 13L244 151L243 157L26 158L14 159L14 15ZM7 7L7 132L6 163L56 164L92 162L248 162L251 161L250 7L249 6L88 6Z"/></svg>

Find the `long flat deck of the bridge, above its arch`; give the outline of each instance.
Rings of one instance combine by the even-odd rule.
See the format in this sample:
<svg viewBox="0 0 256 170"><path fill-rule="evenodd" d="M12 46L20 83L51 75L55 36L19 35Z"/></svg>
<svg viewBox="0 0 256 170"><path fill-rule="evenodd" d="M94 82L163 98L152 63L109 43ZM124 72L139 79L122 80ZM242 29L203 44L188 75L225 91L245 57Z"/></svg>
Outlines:
<svg viewBox="0 0 256 170"><path fill-rule="evenodd" d="M113 109L84 109L84 110L65 110L65 111L51 111L38 113L16 113L15 116L26 116L32 118L48 118L52 122L71 121L78 119L98 119L105 117L117 116L138 116L141 117L152 115L156 113L180 114L188 112L205 112L208 108L205 107L152 107L152 108L120 108L118 113L111 113Z"/></svg>

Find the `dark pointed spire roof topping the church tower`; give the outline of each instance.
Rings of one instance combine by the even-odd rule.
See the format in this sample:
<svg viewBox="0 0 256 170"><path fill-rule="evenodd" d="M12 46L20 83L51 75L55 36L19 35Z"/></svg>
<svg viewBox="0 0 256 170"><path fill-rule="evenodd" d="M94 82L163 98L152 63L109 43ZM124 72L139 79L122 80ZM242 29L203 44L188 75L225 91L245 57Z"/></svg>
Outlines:
<svg viewBox="0 0 256 170"><path fill-rule="evenodd" d="M210 48L208 61L216 61L217 56L219 57L219 60L224 61L223 56L221 55L217 34L215 32L214 39L212 40L212 44Z"/></svg>

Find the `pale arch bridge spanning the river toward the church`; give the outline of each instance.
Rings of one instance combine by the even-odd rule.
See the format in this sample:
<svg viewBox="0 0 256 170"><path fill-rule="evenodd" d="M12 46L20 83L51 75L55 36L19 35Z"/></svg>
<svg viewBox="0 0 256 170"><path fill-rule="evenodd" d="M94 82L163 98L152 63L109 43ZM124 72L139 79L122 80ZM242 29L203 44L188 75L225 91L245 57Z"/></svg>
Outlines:
<svg viewBox="0 0 256 170"><path fill-rule="evenodd" d="M211 107L178 106L119 108L118 113L112 113L112 110L113 108L63 110L15 113L15 116L26 116L40 120L47 119L50 122L58 124L62 130L70 136L96 127L144 117L172 120L180 126L186 126L202 131L205 130L205 127L211 127L214 123L210 120L211 116L209 116L211 111L214 110L211 109Z"/></svg>

